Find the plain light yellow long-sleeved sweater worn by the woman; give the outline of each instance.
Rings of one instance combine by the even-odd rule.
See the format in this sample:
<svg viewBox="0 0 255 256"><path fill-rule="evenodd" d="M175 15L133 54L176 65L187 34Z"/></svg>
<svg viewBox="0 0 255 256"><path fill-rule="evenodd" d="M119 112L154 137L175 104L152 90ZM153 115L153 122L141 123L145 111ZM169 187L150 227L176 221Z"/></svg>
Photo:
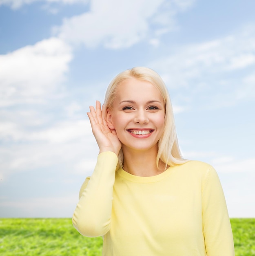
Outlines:
<svg viewBox="0 0 255 256"><path fill-rule="evenodd" d="M198 161L152 177L120 169L113 152L98 155L80 190L74 227L104 236L103 256L234 256L222 186Z"/></svg>

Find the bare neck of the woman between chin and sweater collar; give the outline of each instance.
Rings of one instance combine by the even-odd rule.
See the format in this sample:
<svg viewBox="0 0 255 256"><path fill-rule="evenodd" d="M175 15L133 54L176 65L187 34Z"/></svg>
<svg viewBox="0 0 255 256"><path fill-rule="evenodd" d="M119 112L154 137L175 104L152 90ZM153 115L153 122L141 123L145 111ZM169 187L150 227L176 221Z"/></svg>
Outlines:
<svg viewBox="0 0 255 256"><path fill-rule="evenodd" d="M157 149L142 151L122 148L122 150L124 154L123 169L132 175L155 176L165 170L165 164L162 162L159 162L159 168L157 168Z"/></svg>

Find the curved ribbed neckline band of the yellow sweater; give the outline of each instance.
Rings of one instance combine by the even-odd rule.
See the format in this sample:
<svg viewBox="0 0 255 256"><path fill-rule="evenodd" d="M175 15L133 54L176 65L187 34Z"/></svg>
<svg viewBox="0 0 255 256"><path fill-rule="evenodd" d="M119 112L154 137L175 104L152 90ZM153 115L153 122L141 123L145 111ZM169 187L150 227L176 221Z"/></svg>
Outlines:
<svg viewBox="0 0 255 256"><path fill-rule="evenodd" d="M136 176L133 174L130 174L126 171L124 171L122 168L120 168L117 173L118 175L120 175L120 177L124 178L125 180L129 180L131 182L135 182L135 183L153 183L153 182L158 182L160 180L163 180L164 178L168 177L172 170L173 170L174 166L170 166L169 168L166 169L166 171L154 175L154 176Z"/></svg>

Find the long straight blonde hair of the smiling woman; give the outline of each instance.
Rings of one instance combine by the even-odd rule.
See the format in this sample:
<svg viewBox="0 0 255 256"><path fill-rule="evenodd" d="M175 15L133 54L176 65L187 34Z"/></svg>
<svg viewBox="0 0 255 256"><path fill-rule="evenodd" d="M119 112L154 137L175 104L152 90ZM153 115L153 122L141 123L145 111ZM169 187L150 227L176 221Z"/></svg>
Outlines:
<svg viewBox="0 0 255 256"><path fill-rule="evenodd" d="M155 85L155 87L160 91L165 104L165 122L164 122L164 132L160 140L158 141L158 152L157 152L157 167L160 161L162 161L166 167L174 166L177 164L183 164L186 160L182 157L180 152L175 121L173 116L173 108L171 104L171 99L167 91L166 85L162 78L157 72L148 67L133 67L131 70L125 70L121 72L111 81L109 84L105 99L104 106L105 110L113 108L113 102L116 97L116 92L118 85L125 81L126 79L135 78L142 81L148 81ZM118 168L123 167L124 155L122 150L118 155Z"/></svg>

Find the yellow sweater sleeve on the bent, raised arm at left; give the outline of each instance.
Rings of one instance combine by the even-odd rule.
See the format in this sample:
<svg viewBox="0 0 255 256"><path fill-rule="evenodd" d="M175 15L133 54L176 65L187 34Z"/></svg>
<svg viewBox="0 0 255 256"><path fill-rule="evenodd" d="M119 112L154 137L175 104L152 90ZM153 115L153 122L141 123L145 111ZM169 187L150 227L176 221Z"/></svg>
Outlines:
<svg viewBox="0 0 255 256"><path fill-rule="evenodd" d="M110 229L117 163L115 153L108 151L99 154L91 178L82 184L72 222L83 236L103 236Z"/></svg>

